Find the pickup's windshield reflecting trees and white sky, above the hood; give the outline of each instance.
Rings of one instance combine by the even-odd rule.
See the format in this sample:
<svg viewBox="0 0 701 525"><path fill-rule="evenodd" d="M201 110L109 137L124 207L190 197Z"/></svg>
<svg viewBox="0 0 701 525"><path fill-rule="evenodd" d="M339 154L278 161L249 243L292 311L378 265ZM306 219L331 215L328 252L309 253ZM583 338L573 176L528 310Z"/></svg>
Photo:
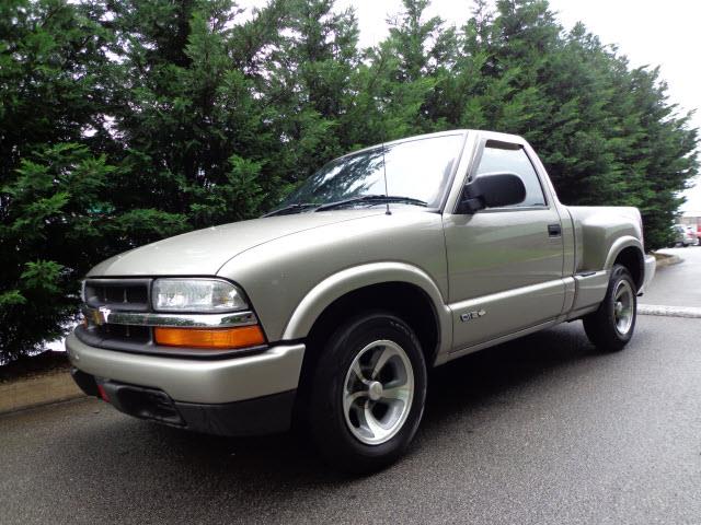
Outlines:
<svg viewBox="0 0 701 525"><path fill-rule="evenodd" d="M462 135L429 137L388 144L331 161L311 175L278 209L299 211L363 196L401 196L438 208L460 154ZM387 190L384 188L384 162ZM307 206L301 206L307 205ZM376 206L358 200L354 206Z"/></svg>

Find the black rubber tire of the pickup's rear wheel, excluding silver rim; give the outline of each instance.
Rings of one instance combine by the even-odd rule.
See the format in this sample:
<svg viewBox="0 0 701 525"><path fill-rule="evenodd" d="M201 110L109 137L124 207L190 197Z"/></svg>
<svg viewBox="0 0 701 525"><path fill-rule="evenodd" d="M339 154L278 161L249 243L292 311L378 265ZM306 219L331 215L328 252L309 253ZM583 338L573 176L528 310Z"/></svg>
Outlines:
<svg viewBox="0 0 701 525"><path fill-rule="evenodd" d="M621 331L617 325L617 301L614 294L620 289L619 287L625 285L630 287L632 291L632 319L628 329ZM628 271L628 268L621 265L614 265L611 270L606 296L599 305L599 308L583 319L584 330L597 349L606 352L616 352L622 350L633 337L636 318L637 288L635 287L635 281L631 277L630 271Z"/></svg>

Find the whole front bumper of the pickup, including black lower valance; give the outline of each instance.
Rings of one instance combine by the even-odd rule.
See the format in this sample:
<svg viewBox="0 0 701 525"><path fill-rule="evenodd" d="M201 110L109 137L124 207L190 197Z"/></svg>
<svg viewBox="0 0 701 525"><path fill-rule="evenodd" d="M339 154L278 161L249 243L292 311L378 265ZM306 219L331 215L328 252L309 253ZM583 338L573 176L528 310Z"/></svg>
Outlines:
<svg viewBox="0 0 701 525"><path fill-rule="evenodd" d="M66 339L73 378L137 418L220 435L255 435L289 428L304 345L254 355L188 360L95 348Z"/></svg>

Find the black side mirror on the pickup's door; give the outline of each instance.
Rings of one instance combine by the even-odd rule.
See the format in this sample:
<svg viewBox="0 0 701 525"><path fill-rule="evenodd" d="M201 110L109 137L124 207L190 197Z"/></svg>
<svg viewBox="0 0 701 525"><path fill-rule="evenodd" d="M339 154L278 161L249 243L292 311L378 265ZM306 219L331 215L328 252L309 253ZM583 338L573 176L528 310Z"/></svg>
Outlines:
<svg viewBox="0 0 701 525"><path fill-rule="evenodd" d="M486 173L464 186L458 213L518 205L524 199L526 186L521 177L515 173Z"/></svg>

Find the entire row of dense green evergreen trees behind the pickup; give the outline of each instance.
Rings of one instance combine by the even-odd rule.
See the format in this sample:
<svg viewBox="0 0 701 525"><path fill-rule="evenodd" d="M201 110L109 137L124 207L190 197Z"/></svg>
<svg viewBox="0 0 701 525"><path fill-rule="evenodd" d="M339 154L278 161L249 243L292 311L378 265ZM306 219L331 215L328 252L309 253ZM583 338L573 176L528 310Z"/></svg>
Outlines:
<svg viewBox="0 0 701 525"><path fill-rule="evenodd" d="M403 0L357 48L333 0L0 2L0 360L60 335L110 255L256 217L324 162L453 128L525 136L567 205L636 206L669 242L697 130L544 0L459 30Z"/></svg>

